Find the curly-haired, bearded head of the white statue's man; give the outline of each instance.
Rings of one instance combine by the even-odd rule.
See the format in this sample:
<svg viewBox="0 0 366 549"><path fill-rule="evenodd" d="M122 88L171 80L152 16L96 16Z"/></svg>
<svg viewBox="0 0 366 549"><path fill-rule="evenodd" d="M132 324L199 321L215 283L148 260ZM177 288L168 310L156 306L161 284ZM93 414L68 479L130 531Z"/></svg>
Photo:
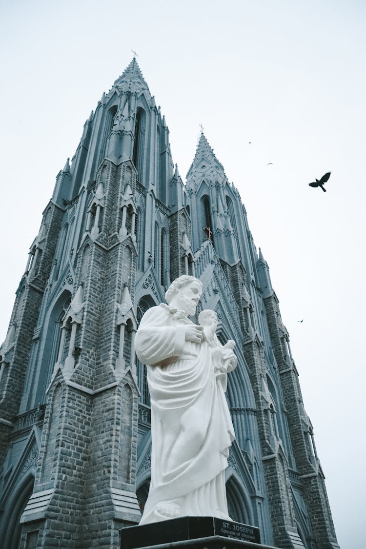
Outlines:
<svg viewBox="0 0 366 549"><path fill-rule="evenodd" d="M171 283L165 299L168 305L183 310L186 315L194 315L201 293L202 282L198 278L182 275Z"/></svg>

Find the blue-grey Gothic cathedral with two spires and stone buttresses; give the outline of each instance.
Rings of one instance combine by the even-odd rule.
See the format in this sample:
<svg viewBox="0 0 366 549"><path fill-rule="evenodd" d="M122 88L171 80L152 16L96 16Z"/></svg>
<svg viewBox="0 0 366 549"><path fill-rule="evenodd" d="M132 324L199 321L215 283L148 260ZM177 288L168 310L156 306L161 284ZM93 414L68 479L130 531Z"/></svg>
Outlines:
<svg viewBox="0 0 366 549"><path fill-rule="evenodd" d="M262 544L336 549L278 298L239 192L203 132L183 182L135 58L58 173L0 348L0 546L117 549L150 483L150 397L134 336L170 283L236 342L230 517Z"/></svg>

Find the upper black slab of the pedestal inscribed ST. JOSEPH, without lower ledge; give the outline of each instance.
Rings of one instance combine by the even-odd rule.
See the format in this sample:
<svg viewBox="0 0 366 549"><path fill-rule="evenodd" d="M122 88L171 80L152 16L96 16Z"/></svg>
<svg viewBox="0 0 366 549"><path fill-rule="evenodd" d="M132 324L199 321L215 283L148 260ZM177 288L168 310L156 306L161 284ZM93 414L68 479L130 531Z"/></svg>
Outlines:
<svg viewBox="0 0 366 549"><path fill-rule="evenodd" d="M121 549L138 549L155 545L173 544L202 538L225 537L230 540L260 544L256 526L248 526L215 517L181 517L162 520L142 526L129 526L121 530ZM181 545L181 544L179 544Z"/></svg>

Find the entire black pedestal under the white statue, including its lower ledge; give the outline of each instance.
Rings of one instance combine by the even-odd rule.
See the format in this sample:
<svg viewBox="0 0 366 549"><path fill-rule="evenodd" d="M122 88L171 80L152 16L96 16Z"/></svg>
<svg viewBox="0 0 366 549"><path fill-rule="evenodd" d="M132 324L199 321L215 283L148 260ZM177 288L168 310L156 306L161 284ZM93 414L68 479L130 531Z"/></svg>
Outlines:
<svg viewBox="0 0 366 549"><path fill-rule="evenodd" d="M259 529L215 517L181 517L121 530L121 549L261 549Z"/></svg>

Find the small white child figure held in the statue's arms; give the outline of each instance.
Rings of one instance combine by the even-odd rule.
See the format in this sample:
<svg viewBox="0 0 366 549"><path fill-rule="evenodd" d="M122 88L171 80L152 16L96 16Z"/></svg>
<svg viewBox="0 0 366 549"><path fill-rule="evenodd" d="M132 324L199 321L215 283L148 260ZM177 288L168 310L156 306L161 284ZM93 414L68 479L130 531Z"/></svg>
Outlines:
<svg viewBox="0 0 366 549"><path fill-rule="evenodd" d="M211 348L216 377L224 382L226 374L232 372L237 366L238 359L233 352L235 341L229 339L225 345L220 343L216 335L217 315L215 311L204 309L200 312L198 321L204 328L204 340Z"/></svg>

